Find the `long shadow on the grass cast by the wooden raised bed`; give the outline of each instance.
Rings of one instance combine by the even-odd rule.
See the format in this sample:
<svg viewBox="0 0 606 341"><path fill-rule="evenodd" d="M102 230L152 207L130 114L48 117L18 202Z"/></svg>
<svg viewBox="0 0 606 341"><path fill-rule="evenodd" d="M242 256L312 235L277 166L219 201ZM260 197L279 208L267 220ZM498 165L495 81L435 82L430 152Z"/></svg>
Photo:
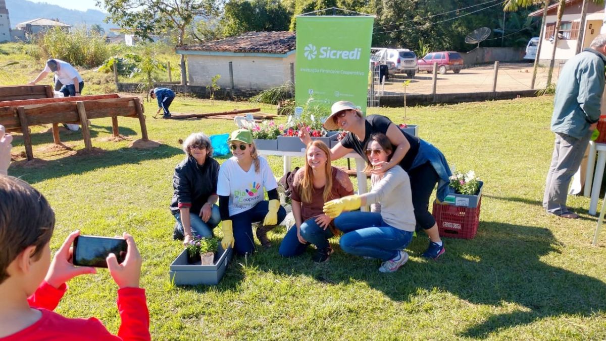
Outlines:
<svg viewBox="0 0 606 341"><path fill-rule="evenodd" d="M160 145L154 149L121 148L106 151L93 147L92 151L80 149L68 151L66 157L55 160L13 161L8 171L14 177L22 178L30 184L38 183L50 178L64 177L66 175L84 174L95 169L118 166L121 164L138 164L147 160L159 160L183 154L179 148ZM34 151L34 156L36 151Z"/></svg>

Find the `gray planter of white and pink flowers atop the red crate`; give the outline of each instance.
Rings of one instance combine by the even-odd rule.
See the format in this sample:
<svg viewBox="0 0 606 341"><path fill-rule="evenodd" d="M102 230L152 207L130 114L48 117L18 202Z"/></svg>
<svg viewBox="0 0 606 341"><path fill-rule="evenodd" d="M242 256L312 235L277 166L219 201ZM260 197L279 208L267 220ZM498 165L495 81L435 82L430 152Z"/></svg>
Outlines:
<svg viewBox="0 0 606 341"><path fill-rule="evenodd" d="M464 207L478 207L484 182L474 171L454 172L450 177L450 188L454 193L446 196L444 204Z"/></svg>

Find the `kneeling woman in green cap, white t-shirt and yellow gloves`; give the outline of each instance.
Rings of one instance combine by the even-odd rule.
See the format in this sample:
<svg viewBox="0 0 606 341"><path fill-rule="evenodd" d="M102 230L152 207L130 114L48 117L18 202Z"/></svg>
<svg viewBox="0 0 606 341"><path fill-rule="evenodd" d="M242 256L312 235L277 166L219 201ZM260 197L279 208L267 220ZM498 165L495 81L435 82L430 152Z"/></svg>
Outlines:
<svg viewBox="0 0 606 341"><path fill-rule="evenodd" d="M227 141L233 157L221 164L217 194L224 248L244 255L255 250L253 222L262 222L256 235L270 247L267 232L284 220L286 210L278 200L278 183L265 158L257 154L253 135L246 129L231 133ZM269 200L264 200L265 190Z"/></svg>

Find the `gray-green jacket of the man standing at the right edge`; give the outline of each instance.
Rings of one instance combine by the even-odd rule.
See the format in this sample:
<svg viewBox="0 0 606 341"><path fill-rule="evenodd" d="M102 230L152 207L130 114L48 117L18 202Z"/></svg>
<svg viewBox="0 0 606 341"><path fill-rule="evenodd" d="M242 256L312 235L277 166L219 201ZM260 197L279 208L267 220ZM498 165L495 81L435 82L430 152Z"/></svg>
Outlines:
<svg viewBox="0 0 606 341"><path fill-rule="evenodd" d="M606 56L591 48L566 62L556 86L551 131L582 138L598 122L605 63Z"/></svg>

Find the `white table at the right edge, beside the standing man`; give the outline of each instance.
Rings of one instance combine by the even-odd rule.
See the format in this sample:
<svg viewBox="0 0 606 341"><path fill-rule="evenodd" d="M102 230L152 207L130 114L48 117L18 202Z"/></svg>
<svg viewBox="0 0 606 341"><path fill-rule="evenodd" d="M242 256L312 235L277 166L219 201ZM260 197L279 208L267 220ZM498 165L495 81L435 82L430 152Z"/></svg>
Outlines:
<svg viewBox="0 0 606 341"><path fill-rule="evenodd" d="M596 153L598 154L598 163L596 164ZM606 143L589 143L589 155L587 155L587 172L585 173L584 196L591 196L589 202L589 214L595 215L598 210L598 200L600 189L602 187L602 178L604 178L604 167L606 166ZM593 186L592 186L593 183ZM591 192L590 192L591 190Z"/></svg>

